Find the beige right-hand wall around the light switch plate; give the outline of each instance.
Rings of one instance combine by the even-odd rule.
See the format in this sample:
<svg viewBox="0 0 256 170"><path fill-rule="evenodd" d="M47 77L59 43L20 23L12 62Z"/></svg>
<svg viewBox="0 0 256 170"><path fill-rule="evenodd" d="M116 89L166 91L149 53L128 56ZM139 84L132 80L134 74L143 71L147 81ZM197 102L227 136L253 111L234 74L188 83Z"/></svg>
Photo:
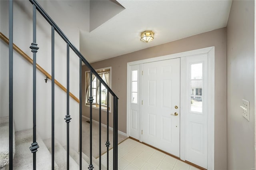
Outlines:
<svg viewBox="0 0 256 170"><path fill-rule="evenodd" d="M242 117L250 102L250 122ZM254 1L233 1L227 25L228 169L254 168Z"/></svg>

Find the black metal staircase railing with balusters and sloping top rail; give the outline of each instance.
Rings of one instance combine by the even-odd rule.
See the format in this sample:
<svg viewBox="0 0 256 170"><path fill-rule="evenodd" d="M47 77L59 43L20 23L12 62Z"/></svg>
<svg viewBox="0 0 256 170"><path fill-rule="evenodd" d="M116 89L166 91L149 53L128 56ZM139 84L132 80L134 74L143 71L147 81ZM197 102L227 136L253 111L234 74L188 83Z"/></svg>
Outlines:
<svg viewBox="0 0 256 170"><path fill-rule="evenodd" d="M36 142L36 52L39 47L36 43L36 12L38 11L45 20L52 26L52 80L54 80L54 32L56 31L60 37L66 42L67 47L67 115L65 121L67 123L67 169L69 169L69 123L70 123L70 113L69 113L69 49L71 48L74 53L80 58L80 76L79 76L79 150L80 150L80 170L82 170L82 62L90 69L90 164L88 169L92 170L92 74L97 77L101 84L107 89L107 108L109 108L109 93L113 96L113 169L118 169L118 97L116 94L108 87L104 80L98 75L94 68L88 63L84 56L78 51L78 49L68 40L66 35L60 30L60 28L55 24L55 22L50 18L50 16L44 11L44 9L38 4L36 0L30 0L33 5L33 42L30 45L30 49L33 52L33 143L30 146L30 150L33 153L33 169L36 169L36 152L39 148ZM99 96L101 96L101 90L99 91ZM54 81L52 81L52 169L54 169ZM99 126L101 127L101 102L99 104ZM9 168L13 169L13 0L9 0ZM101 130L101 128L99 128ZM99 132L99 138L101 141L101 131ZM109 111L107 109L107 169L109 168L108 160L108 148L110 146L109 142ZM99 153L101 156L101 143L99 145ZM101 169L101 157L99 158L99 168Z"/></svg>

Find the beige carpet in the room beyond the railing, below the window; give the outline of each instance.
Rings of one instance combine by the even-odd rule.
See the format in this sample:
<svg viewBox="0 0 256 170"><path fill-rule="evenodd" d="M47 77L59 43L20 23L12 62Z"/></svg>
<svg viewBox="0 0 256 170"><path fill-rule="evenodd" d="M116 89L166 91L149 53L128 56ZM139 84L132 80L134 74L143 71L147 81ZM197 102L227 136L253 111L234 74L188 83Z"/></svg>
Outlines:
<svg viewBox="0 0 256 170"><path fill-rule="evenodd" d="M90 123L86 118L82 118L82 152L88 157L90 156ZM106 141L107 141L107 128L101 126L101 154L104 154L107 151ZM127 136L118 134L118 143L125 140ZM109 130L109 149L113 147L113 131ZM98 158L99 156L99 124L92 121L92 156Z"/></svg>

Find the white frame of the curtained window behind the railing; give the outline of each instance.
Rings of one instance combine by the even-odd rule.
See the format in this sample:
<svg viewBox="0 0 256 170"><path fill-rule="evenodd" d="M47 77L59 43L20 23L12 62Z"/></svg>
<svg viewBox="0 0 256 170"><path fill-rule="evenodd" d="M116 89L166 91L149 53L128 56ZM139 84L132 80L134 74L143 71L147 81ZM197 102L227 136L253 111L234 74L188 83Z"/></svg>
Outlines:
<svg viewBox="0 0 256 170"><path fill-rule="evenodd" d="M105 67L105 68L101 68L101 69L96 69L95 71L98 73L98 74L100 74L100 73L104 73L104 72L108 72L108 70L109 70L109 87L110 87L110 89L111 89L111 67ZM90 74L88 74L88 73L90 73L90 70L88 70L88 71L85 71L85 89L86 89L86 85L87 85L87 76L88 75L90 75ZM94 77L94 79L96 79L96 99L94 99L94 101L95 102L93 102L92 103L92 107L93 108L95 108L95 109L99 109L99 106L100 106L100 104L99 103L97 103L97 97L98 97L98 88L100 87L100 86L98 86L98 83L99 83L99 81L98 81L98 79L97 79L97 77ZM93 79L93 80L94 80ZM90 81L90 80L89 80ZM98 88L97 88L98 87ZM87 93L87 91L85 90L85 102L84 102L84 104L85 104L85 106L87 106L87 107L90 107L90 103L87 103L87 101L88 101L88 99L86 99L86 93ZM90 94L89 94L90 95ZM109 113L111 113L111 95L109 96L109 108L108 108L108 110L109 110ZM104 105L104 104L101 104L101 110L102 111L107 111L107 105Z"/></svg>

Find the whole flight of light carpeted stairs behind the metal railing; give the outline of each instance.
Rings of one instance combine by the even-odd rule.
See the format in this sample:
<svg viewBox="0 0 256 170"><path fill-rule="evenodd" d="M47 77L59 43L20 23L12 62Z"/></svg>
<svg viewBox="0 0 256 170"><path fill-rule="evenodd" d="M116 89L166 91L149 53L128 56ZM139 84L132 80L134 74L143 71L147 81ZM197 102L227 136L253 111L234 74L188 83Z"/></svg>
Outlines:
<svg viewBox="0 0 256 170"><path fill-rule="evenodd" d="M13 124L14 125L14 124ZM0 170L9 169L9 117L0 118ZM33 169L33 154L29 147L33 142L33 129L21 130L15 132L13 126L13 169L28 170ZM42 140L38 133L36 141L39 148L36 152L36 169L51 169L51 138ZM66 169L66 146L62 147L58 140L55 139L55 156L54 170ZM82 152L82 169L87 170L90 164L90 158ZM99 170L99 161L92 156L92 164L94 170ZM70 148L70 170L79 169L79 152ZM101 165L102 170L106 170L106 166Z"/></svg>

